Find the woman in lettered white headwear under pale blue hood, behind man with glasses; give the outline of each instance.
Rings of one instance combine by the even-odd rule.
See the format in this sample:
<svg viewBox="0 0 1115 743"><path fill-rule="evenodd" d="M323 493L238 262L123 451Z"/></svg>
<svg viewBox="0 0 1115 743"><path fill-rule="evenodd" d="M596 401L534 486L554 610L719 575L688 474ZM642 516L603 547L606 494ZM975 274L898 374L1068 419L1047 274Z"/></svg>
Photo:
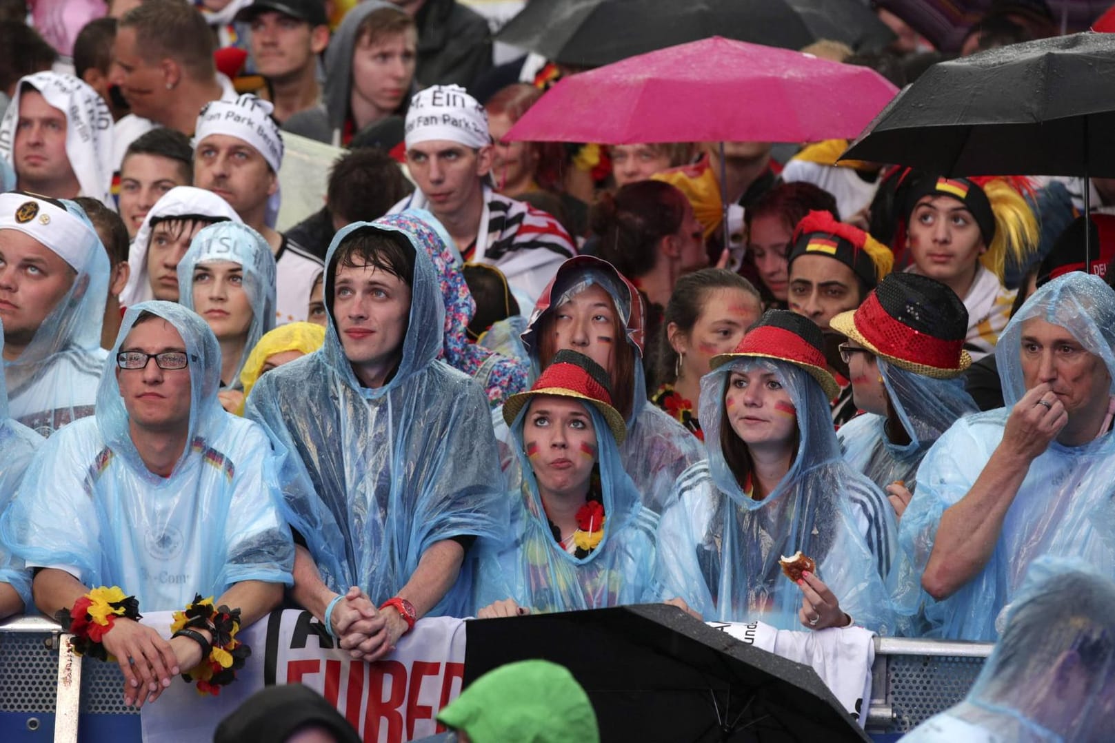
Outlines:
<svg viewBox="0 0 1115 743"><path fill-rule="evenodd" d="M244 402L240 371L264 333L274 327L275 261L260 233L223 222L202 228L177 266L182 306L209 323L221 345L221 404Z"/></svg>

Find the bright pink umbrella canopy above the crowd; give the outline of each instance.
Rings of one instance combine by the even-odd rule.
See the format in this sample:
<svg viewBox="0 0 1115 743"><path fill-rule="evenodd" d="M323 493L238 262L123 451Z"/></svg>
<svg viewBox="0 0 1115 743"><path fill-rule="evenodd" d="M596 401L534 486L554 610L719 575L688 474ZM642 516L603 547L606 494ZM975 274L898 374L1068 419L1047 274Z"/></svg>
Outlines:
<svg viewBox="0 0 1115 743"><path fill-rule="evenodd" d="M849 138L896 91L866 67L714 37L568 77L504 139L622 145Z"/></svg>

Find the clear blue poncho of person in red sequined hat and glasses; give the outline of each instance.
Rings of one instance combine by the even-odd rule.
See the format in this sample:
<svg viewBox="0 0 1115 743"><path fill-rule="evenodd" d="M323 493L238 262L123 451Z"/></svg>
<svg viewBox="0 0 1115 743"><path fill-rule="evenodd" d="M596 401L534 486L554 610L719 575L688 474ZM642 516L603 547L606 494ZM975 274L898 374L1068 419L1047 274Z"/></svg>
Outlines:
<svg viewBox="0 0 1115 743"><path fill-rule="evenodd" d="M979 412L964 390L963 378L932 379L901 369L876 356L886 395L910 437L895 444L883 431L884 416L864 413L844 423L836 432L844 459L852 469L885 488L901 480L913 492L922 457L957 419Z"/></svg>

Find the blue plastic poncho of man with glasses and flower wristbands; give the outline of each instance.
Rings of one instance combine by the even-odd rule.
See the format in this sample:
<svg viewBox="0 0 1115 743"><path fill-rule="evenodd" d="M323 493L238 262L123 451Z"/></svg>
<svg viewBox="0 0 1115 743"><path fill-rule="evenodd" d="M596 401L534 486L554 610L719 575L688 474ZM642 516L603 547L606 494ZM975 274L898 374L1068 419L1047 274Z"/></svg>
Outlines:
<svg viewBox="0 0 1115 743"><path fill-rule="evenodd" d="M116 354L143 311L169 322L190 354L190 443L167 478L139 458L117 382ZM96 417L40 449L0 521L3 544L86 586L120 586L142 610L178 609L242 580L290 584L294 547L274 454L258 426L221 409L209 325L177 304L143 302L124 315L110 359Z"/></svg>

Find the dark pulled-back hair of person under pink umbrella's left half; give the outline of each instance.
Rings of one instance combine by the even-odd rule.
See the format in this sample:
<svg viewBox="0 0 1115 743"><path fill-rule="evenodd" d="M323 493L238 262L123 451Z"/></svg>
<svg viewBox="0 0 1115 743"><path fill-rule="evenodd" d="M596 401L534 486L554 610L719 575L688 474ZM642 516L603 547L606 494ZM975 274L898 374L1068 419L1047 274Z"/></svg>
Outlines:
<svg viewBox="0 0 1115 743"><path fill-rule="evenodd" d="M637 180L614 196L601 194L589 213L589 227L600 237L599 257L628 278L646 276L658 263L658 241L681 229L689 202L661 180Z"/></svg>

